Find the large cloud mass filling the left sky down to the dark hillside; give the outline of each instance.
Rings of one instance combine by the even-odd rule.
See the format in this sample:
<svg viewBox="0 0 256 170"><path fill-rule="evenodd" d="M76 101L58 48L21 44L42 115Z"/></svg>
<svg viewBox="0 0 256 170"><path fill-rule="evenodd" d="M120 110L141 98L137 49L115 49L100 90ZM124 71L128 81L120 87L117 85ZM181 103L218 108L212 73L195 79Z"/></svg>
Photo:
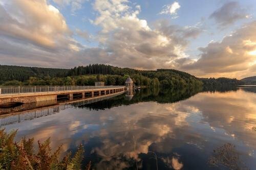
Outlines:
<svg viewBox="0 0 256 170"><path fill-rule="evenodd" d="M45 0L5 3L0 16L2 63L55 67L59 62L66 66L71 52L80 48L65 18Z"/></svg>

